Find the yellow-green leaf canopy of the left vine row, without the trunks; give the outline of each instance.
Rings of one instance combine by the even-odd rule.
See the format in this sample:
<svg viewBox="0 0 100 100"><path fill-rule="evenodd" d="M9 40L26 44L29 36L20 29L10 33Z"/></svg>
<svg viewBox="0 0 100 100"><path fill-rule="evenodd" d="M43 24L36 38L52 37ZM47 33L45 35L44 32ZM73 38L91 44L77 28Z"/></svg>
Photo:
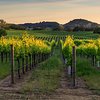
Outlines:
<svg viewBox="0 0 100 100"><path fill-rule="evenodd" d="M15 58L23 58L34 53L50 53L51 46L46 45L42 40L34 39L33 36L23 34L20 38L0 39L0 52L9 53L10 45L13 44Z"/></svg>

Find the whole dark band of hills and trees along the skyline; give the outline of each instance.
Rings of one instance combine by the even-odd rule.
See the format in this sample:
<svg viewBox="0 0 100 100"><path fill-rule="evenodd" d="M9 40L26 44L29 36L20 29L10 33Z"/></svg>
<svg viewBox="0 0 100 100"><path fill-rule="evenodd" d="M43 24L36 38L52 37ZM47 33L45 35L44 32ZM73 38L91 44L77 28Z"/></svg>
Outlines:
<svg viewBox="0 0 100 100"><path fill-rule="evenodd" d="M100 24L88 21L85 19L74 19L66 24L60 24L58 22L43 21L39 23L24 23L24 24L10 24L4 20L0 20L0 27L11 28L11 29L28 29L28 30L90 30L93 31L95 28L100 27Z"/></svg>

